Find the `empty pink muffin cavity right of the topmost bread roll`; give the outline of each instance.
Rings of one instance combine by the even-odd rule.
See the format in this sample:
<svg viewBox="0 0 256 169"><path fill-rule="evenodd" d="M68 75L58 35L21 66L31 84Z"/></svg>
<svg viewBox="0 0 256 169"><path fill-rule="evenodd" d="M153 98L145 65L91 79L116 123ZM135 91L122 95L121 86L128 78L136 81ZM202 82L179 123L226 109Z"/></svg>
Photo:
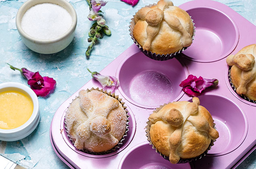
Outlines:
<svg viewBox="0 0 256 169"><path fill-rule="evenodd" d="M214 8L187 10L195 23L195 40L184 50L189 60L214 62L228 56L236 47L239 33L235 22Z"/></svg>

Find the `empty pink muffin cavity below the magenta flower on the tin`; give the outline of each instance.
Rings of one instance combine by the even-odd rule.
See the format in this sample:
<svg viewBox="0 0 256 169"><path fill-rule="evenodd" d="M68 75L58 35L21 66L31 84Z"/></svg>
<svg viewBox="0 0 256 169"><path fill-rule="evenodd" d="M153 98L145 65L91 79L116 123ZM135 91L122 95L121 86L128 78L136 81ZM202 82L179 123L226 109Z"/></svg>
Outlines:
<svg viewBox="0 0 256 169"><path fill-rule="evenodd" d="M248 132L248 121L242 109L230 99L214 93L201 95L199 99L200 105L211 113L220 135L207 156L225 155L239 147Z"/></svg>

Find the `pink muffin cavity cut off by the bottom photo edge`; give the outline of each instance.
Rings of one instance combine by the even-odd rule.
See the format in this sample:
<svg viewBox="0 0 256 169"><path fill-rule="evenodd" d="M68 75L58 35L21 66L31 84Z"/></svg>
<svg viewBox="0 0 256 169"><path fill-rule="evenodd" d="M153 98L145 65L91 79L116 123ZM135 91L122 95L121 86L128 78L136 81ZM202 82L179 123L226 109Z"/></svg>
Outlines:
<svg viewBox="0 0 256 169"><path fill-rule="evenodd" d="M143 142L131 148L124 155L118 169L191 169L191 167L189 163L170 163L155 153L149 142Z"/></svg>

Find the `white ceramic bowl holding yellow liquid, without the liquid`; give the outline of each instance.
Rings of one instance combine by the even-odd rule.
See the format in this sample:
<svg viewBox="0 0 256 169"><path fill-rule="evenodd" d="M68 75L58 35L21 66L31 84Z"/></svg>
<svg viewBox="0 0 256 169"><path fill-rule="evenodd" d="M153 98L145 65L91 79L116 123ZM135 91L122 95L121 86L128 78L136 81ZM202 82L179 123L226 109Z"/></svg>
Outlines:
<svg viewBox="0 0 256 169"><path fill-rule="evenodd" d="M25 124L14 128L14 129L0 129L0 140L2 141L16 141L20 140L22 138L27 137L31 132L33 132L38 125L39 119L40 119L40 113L39 113L39 103L38 103L38 97L36 96L36 93L32 91L29 87L17 83L17 82L6 82L0 84L0 92L8 91L8 90L15 90L20 91L27 95L33 102L34 109L31 117Z"/></svg>

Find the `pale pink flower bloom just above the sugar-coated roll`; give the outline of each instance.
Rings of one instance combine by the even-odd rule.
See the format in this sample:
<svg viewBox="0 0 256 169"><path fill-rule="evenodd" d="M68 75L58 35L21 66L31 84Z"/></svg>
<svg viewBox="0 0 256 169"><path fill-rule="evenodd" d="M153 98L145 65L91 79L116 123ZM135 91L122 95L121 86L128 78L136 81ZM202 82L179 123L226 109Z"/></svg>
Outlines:
<svg viewBox="0 0 256 169"><path fill-rule="evenodd" d="M119 80L115 76L104 76L98 72L91 72L88 68L87 70L92 74L92 78L98 80L103 87L108 87L113 91L115 87L119 86Z"/></svg>

